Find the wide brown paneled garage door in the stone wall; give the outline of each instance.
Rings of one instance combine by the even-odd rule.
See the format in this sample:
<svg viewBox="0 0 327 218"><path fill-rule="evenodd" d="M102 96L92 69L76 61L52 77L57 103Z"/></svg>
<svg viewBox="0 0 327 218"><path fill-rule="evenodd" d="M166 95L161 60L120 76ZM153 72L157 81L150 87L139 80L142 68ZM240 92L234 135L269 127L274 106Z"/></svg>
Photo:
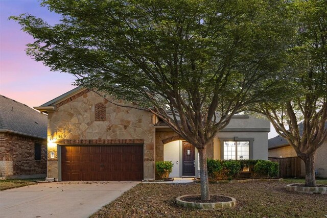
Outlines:
<svg viewBox="0 0 327 218"><path fill-rule="evenodd" d="M143 179L143 146L62 146L63 181Z"/></svg>

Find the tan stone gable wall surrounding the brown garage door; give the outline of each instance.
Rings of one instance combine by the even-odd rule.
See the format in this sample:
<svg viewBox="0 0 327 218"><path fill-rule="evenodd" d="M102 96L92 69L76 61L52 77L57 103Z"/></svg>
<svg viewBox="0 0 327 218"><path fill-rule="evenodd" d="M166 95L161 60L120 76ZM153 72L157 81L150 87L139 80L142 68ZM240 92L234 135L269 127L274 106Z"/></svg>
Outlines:
<svg viewBox="0 0 327 218"><path fill-rule="evenodd" d="M106 98L111 101L109 96ZM103 103L105 108L99 103ZM98 140L98 144L115 143L113 139L120 139L119 143L124 139L127 139L127 142L132 142L132 139L142 140L144 178L154 178L154 117L151 113L116 106L89 90L71 96L56 107L55 112L48 114L48 139L73 139L74 143L92 139ZM96 108L100 108L97 117ZM48 153L50 152L55 152L56 158L50 159L48 156L48 177L59 178L57 147L48 144Z"/></svg>

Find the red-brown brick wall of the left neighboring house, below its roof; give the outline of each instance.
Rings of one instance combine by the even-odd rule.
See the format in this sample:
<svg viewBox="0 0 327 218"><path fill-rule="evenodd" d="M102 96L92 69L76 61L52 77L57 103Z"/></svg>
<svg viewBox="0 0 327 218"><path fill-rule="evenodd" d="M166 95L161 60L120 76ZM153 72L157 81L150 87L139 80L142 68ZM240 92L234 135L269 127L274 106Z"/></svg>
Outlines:
<svg viewBox="0 0 327 218"><path fill-rule="evenodd" d="M34 159L34 142L41 143L41 160ZM0 133L0 172L6 177L46 174L46 140Z"/></svg>

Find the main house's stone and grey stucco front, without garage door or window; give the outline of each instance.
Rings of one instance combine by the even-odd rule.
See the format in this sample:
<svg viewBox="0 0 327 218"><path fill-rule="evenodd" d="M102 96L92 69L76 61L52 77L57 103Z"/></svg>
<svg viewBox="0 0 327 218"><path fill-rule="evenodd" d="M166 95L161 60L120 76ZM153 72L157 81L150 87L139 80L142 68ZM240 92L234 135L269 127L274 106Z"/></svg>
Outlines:
<svg viewBox="0 0 327 218"><path fill-rule="evenodd" d="M165 144L179 141L174 147L181 157L183 138L167 126L155 125L157 118L148 111L131 108L134 105L115 101L94 91L78 87L36 109L48 113L48 174L61 179L62 146L143 144L144 179L155 178L155 161L164 157ZM123 105L123 106L118 106ZM239 119L242 118L242 119ZM253 157L267 159L269 122L249 116L233 119L226 132L220 133L207 146L207 158L218 158L219 138L255 138ZM252 141L253 141L252 140ZM179 149L180 150L179 150ZM174 151L173 151L174 154ZM167 155L169 156L169 155ZM198 163L195 157L195 164ZM178 162L181 162L181 158ZM176 164L177 165L177 164ZM179 167L181 164L179 164ZM181 168L181 167L180 167ZM199 166L195 169L196 175ZM181 171L180 171L181 172Z"/></svg>

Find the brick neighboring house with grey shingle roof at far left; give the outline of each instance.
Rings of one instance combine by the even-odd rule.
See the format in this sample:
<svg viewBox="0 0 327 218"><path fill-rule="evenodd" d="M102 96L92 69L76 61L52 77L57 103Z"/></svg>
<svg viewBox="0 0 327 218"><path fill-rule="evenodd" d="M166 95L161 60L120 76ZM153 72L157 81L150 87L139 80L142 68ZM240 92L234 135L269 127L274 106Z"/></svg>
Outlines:
<svg viewBox="0 0 327 218"><path fill-rule="evenodd" d="M0 95L0 177L46 176L44 114Z"/></svg>

